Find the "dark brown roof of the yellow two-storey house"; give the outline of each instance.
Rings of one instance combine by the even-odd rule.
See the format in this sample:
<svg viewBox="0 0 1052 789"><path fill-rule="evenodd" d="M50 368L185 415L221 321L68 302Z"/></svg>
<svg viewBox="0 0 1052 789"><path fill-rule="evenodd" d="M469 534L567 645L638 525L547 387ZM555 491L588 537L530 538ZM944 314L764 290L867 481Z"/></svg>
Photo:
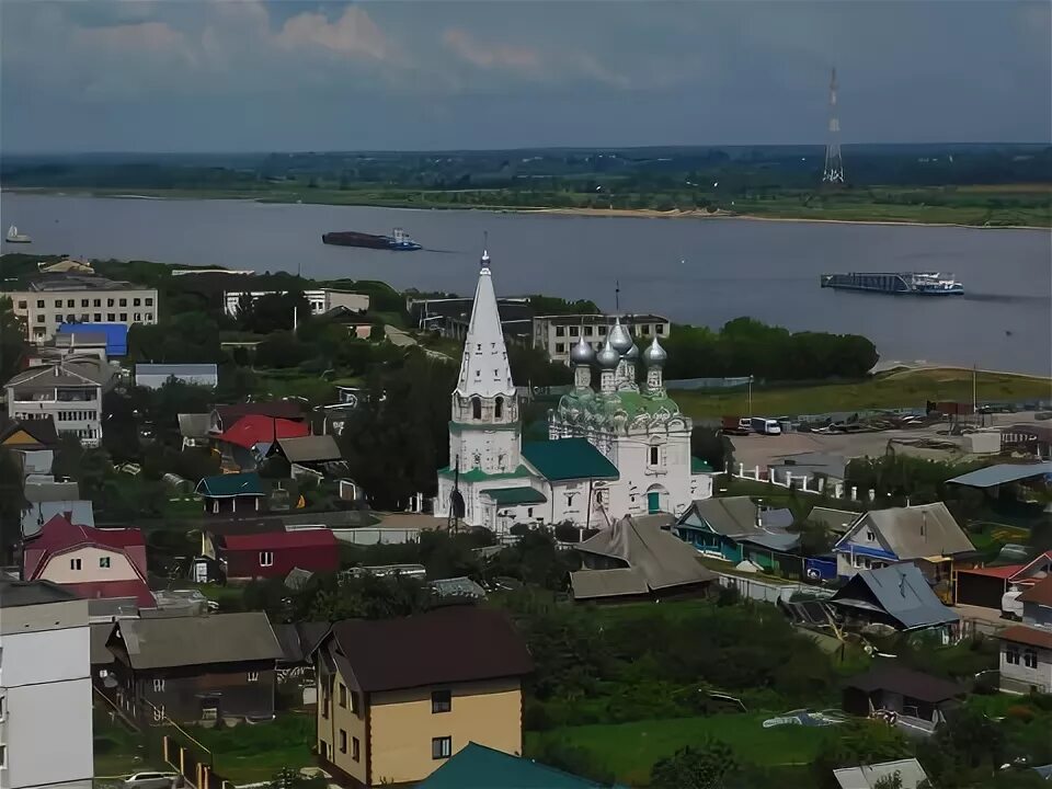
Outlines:
<svg viewBox="0 0 1052 789"><path fill-rule="evenodd" d="M447 606L400 619L332 626L361 690L395 690L529 674L526 642L504 611Z"/></svg>

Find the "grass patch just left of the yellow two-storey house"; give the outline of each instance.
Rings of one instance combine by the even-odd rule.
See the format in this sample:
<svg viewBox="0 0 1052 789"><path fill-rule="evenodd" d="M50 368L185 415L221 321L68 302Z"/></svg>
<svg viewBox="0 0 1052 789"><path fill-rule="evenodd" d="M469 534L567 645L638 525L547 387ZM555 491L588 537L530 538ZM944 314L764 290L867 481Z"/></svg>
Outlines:
<svg viewBox="0 0 1052 789"><path fill-rule="evenodd" d="M315 717L283 712L270 723L233 729L194 729L191 733L213 752L216 771L235 784L270 780L283 767L315 765Z"/></svg>

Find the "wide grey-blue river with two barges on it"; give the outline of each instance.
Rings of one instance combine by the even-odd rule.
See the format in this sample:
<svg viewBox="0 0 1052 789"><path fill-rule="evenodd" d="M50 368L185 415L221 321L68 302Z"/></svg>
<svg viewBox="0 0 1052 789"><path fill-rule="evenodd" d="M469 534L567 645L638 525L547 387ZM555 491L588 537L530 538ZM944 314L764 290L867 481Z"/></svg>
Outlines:
<svg viewBox="0 0 1052 789"><path fill-rule="evenodd" d="M752 316L794 331L864 334L882 362L1052 374L1052 233L747 219L582 217L276 205L248 201L0 195L4 251L299 271L470 295L489 237L500 295L591 298L719 327ZM405 230L425 249L327 247L329 230ZM965 295L907 298L822 289L844 271L952 272Z"/></svg>

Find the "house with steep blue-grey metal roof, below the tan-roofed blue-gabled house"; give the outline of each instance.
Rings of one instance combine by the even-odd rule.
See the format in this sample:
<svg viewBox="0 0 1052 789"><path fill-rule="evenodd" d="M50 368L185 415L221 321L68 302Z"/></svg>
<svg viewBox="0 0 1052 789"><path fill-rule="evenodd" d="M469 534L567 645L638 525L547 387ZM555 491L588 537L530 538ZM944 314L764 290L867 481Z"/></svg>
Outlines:
<svg viewBox="0 0 1052 789"><path fill-rule="evenodd" d="M830 598L849 625L887 625L896 630L926 630L956 625L960 617L935 596L914 564L860 570Z"/></svg>

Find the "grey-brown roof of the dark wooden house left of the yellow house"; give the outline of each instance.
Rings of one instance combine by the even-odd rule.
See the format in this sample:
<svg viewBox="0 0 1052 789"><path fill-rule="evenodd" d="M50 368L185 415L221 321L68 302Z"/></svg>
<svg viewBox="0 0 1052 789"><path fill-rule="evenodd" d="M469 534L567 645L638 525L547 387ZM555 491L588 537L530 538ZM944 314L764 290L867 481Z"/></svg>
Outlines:
<svg viewBox="0 0 1052 789"><path fill-rule="evenodd" d="M271 661L282 656L282 648L262 611L123 619L117 622L117 631L136 670Z"/></svg>

